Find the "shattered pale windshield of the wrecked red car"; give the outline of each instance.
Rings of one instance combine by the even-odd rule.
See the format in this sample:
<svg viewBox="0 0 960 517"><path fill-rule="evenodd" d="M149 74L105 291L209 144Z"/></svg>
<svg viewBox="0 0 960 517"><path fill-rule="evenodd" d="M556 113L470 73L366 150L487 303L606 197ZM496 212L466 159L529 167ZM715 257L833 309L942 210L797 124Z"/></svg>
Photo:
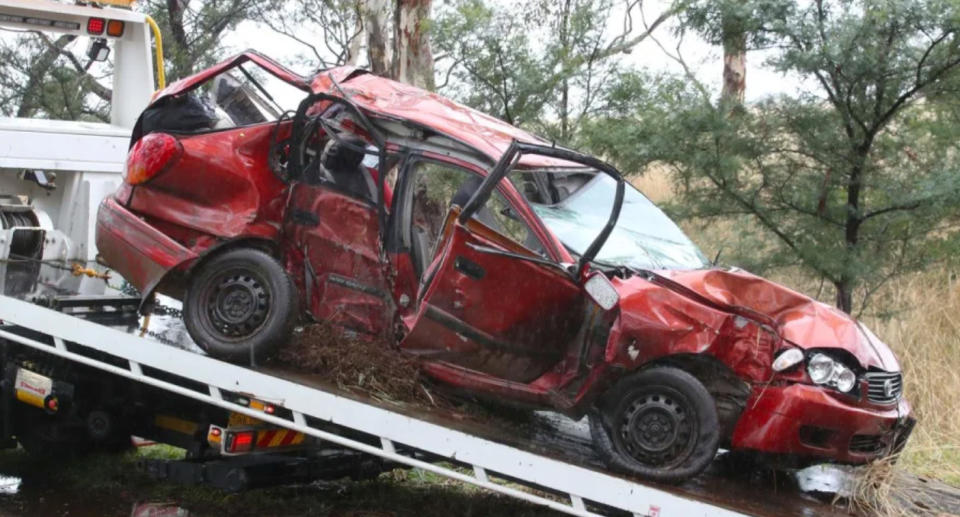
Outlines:
<svg viewBox="0 0 960 517"><path fill-rule="evenodd" d="M580 255L610 218L616 187L616 180L610 176L594 173L562 201L531 205L550 231ZM629 183L617 225L594 260L640 269L699 269L708 265L703 253L676 223Z"/></svg>

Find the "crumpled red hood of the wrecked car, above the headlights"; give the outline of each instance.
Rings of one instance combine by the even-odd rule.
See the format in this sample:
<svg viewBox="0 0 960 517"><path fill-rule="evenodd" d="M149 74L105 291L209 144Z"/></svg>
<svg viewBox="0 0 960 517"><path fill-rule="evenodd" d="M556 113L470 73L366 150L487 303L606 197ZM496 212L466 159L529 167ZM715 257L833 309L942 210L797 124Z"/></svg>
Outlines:
<svg viewBox="0 0 960 517"><path fill-rule="evenodd" d="M825 303L745 271L660 271L710 302L769 317L780 336L804 349L846 350L867 368L900 371L890 348L863 324Z"/></svg>

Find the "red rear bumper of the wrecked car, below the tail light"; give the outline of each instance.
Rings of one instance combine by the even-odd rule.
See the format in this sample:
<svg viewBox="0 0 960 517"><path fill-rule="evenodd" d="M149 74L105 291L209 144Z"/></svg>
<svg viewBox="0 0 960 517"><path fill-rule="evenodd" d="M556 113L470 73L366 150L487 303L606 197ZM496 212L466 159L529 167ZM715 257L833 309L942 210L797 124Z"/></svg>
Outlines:
<svg viewBox="0 0 960 517"><path fill-rule="evenodd" d="M197 254L160 232L114 198L100 205L97 218L97 249L117 273L144 296L166 274L197 258Z"/></svg>

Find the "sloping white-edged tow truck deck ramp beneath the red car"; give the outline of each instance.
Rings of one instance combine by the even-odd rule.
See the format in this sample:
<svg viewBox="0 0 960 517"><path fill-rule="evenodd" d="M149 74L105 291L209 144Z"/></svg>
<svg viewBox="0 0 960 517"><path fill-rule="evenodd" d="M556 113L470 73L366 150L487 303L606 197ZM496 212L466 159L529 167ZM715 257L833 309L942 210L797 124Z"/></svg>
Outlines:
<svg viewBox="0 0 960 517"><path fill-rule="evenodd" d="M754 501L749 489L735 497L712 493L734 487L724 483L651 486L597 470L586 456L557 459L549 440L531 452L506 436L478 436L484 433L457 429L455 422L442 418L410 416L335 394L308 378L225 363L9 296L0 296L0 320L8 325L0 327L0 338L570 515L733 517L800 515L811 509L818 515L841 514L810 499L786 507L782 502L771 504L770 495ZM20 335L9 325L39 333L43 339ZM227 394L255 397L283 410L265 414ZM582 440L576 432L568 434L573 437L564 437L561 430L555 438Z"/></svg>

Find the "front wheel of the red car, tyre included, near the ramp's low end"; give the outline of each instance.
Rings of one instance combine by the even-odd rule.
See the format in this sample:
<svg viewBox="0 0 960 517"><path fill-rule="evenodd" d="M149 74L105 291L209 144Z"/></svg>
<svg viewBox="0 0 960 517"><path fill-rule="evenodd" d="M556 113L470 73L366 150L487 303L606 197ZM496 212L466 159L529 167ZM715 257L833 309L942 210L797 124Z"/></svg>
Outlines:
<svg viewBox="0 0 960 517"><path fill-rule="evenodd" d="M591 413L590 432L610 468L667 483L702 472L719 443L713 397L696 377L669 367L620 381Z"/></svg>

